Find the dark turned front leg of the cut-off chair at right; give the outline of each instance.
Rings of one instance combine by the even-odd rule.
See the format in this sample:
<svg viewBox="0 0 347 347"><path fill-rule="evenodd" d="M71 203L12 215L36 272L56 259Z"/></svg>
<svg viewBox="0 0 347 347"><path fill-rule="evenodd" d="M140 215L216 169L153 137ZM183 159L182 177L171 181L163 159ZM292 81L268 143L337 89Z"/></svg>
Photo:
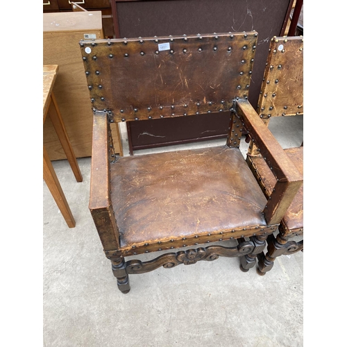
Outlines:
<svg viewBox="0 0 347 347"><path fill-rule="evenodd" d="M283 237L278 234L275 238L273 234L269 235L267 239L267 253L264 252L257 255L258 265L257 273L260 276L264 276L266 272L270 271L273 268L273 262L276 257L284 254L287 251L287 237Z"/></svg>

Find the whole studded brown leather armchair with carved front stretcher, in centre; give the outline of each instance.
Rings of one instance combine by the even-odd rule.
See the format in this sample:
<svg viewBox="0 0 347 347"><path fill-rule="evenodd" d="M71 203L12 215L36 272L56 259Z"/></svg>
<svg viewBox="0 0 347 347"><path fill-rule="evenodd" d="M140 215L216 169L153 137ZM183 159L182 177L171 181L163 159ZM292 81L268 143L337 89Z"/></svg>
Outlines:
<svg viewBox="0 0 347 347"><path fill-rule="evenodd" d="M80 42L94 111L90 211L123 293L129 274L160 266L239 256L247 271L301 187L247 100L256 44L256 32ZM230 112L225 146L112 153L112 122L218 110ZM276 175L269 198L239 151L244 129ZM237 246L220 245L230 239ZM124 259L158 251L147 262Z"/></svg>

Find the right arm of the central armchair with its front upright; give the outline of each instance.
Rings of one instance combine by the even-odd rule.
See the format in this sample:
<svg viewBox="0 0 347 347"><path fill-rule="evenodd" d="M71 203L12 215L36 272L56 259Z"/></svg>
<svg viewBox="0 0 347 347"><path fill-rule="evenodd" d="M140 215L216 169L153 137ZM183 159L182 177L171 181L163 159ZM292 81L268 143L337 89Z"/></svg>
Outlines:
<svg viewBox="0 0 347 347"><path fill-rule="evenodd" d="M235 112L276 176L277 183L263 212L267 223L280 223L303 185L303 176L247 100L237 101Z"/></svg>

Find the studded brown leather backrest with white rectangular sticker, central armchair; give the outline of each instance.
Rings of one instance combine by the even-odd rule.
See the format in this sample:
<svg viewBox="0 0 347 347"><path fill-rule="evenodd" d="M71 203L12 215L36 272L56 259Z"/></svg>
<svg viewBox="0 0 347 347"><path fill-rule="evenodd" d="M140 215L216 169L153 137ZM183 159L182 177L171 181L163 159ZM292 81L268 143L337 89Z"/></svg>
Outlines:
<svg viewBox="0 0 347 347"><path fill-rule="evenodd" d="M247 98L257 33L82 40L93 108L114 121L227 111Z"/></svg>

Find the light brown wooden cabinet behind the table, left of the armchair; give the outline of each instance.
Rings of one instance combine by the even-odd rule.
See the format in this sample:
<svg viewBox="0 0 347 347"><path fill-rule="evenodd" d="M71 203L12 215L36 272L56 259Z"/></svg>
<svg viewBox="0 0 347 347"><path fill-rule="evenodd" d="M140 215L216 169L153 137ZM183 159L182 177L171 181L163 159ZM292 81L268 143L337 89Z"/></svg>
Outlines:
<svg viewBox="0 0 347 347"><path fill-rule="evenodd" d="M71 6L71 5L70 5ZM59 65L54 85L62 119L77 158L92 155L92 103L85 84L79 40L85 35L103 38L100 11L53 12L43 15L43 62ZM112 128L115 152L121 153L117 126ZM51 160L66 159L56 131L47 119L44 146Z"/></svg>

